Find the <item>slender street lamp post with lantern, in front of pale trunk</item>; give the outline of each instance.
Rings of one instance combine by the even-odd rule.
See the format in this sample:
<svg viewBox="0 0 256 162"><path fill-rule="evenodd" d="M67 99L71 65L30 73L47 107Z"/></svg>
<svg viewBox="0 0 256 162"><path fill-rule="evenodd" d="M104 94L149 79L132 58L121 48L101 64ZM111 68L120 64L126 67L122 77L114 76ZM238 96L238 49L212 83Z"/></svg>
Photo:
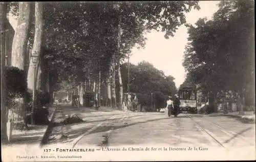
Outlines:
<svg viewBox="0 0 256 162"><path fill-rule="evenodd" d="M34 111L35 111L35 89L36 89L36 62L38 55L36 52L34 54L30 55L32 62L33 62L33 67L34 67L34 83L33 83L33 96L32 96L32 110L31 110L31 124L34 124Z"/></svg>

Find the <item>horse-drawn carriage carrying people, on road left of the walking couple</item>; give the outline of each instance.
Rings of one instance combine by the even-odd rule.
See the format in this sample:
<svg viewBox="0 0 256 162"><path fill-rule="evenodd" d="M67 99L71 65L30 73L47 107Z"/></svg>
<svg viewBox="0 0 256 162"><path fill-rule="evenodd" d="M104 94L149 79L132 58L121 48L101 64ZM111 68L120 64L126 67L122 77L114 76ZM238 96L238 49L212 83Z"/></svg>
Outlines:
<svg viewBox="0 0 256 162"><path fill-rule="evenodd" d="M123 94L123 110L138 111L137 94L126 92Z"/></svg>

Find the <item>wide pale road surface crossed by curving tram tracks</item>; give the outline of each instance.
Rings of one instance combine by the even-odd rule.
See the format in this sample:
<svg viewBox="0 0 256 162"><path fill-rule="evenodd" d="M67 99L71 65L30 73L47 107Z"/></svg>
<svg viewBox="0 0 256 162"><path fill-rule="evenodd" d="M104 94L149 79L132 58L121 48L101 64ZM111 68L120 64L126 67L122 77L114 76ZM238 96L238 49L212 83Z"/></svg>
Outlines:
<svg viewBox="0 0 256 162"><path fill-rule="evenodd" d="M56 121L67 118L66 115L71 113L77 114L84 122L55 127L48 146L95 146L101 151L123 146L127 146L129 151L141 151L142 146L164 146L168 151L190 147L202 151L202 155L211 153L212 159L220 157L212 154L214 149L242 152L243 155L232 153L232 156L239 155L237 158L242 159L255 157L255 124L243 123L230 117L181 113L174 118L159 112L123 112L113 109L96 111L93 108L78 109L66 105L59 110ZM233 156L233 159L237 158ZM180 160L180 157L176 159ZM205 159L209 160L208 156Z"/></svg>

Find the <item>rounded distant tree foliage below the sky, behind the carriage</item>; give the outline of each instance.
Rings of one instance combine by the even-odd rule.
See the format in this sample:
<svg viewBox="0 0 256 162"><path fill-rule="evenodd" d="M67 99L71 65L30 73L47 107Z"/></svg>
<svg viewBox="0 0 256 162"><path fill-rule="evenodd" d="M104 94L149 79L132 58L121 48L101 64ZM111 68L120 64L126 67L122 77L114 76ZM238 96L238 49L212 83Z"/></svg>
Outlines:
<svg viewBox="0 0 256 162"><path fill-rule="evenodd" d="M121 65L122 81L124 91L127 91L127 63ZM160 70L157 70L151 63L142 61L138 65L130 65L130 91L139 95L139 102L142 104L151 104L151 93L154 96L158 106L165 104L168 96L177 93L173 76L165 76Z"/></svg>

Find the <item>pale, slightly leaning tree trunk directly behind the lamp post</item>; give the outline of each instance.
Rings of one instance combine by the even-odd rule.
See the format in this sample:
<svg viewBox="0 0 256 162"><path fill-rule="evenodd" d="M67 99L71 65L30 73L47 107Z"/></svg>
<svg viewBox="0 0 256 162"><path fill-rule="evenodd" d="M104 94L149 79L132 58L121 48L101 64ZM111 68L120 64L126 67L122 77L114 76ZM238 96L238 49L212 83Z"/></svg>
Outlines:
<svg viewBox="0 0 256 162"><path fill-rule="evenodd" d="M39 68L39 61L41 55L41 46L42 46L42 36L43 36L43 26L44 21L42 17L42 3L36 2L35 3L35 35L34 35L34 44L32 49L32 55L37 56L36 58L30 59L29 70L28 70L28 89L31 91L33 89L33 84L36 82L34 81L34 65L36 68ZM33 63L36 62L36 63ZM38 71L36 69L36 71ZM37 76L37 75L36 75Z"/></svg>

